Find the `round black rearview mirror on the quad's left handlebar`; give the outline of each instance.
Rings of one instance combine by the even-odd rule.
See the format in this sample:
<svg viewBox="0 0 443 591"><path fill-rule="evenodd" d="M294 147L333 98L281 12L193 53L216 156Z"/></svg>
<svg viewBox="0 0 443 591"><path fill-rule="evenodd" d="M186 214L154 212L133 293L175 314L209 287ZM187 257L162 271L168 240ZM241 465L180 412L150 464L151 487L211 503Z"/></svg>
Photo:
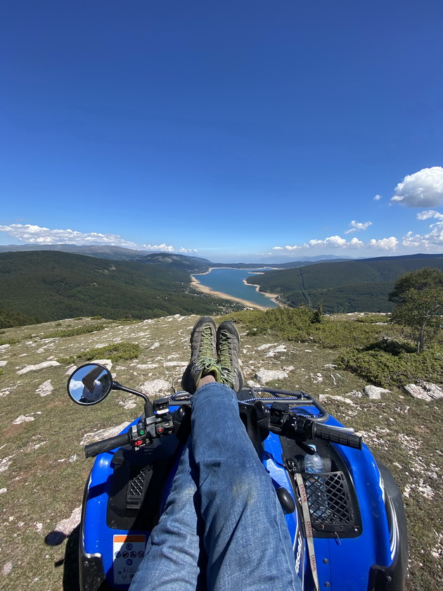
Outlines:
<svg viewBox="0 0 443 591"><path fill-rule="evenodd" d="M113 376L98 363L82 365L68 380L68 394L77 405L96 405L113 389Z"/></svg>

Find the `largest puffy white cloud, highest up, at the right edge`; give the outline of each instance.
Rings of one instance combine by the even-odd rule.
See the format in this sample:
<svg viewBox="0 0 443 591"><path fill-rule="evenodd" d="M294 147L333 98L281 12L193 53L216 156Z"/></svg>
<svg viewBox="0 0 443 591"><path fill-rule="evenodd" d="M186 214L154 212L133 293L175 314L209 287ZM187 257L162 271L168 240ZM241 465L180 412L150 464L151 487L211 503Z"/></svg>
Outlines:
<svg viewBox="0 0 443 591"><path fill-rule="evenodd" d="M395 187L391 201L408 208L435 208L443 205L443 167L432 166L408 174Z"/></svg>

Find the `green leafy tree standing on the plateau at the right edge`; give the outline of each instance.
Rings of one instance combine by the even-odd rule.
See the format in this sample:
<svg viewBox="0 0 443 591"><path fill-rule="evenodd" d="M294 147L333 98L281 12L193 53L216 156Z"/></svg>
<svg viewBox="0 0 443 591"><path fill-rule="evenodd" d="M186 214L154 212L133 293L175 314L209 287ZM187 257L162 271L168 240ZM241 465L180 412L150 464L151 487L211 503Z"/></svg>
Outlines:
<svg viewBox="0 0 443 591"><path fill-rule="evenodd" d="M425 333L432 336L443 323L443 272L425 267L400 277L389 300L397 303L391 322L417 331L417 352L425 347Z"/></svg>

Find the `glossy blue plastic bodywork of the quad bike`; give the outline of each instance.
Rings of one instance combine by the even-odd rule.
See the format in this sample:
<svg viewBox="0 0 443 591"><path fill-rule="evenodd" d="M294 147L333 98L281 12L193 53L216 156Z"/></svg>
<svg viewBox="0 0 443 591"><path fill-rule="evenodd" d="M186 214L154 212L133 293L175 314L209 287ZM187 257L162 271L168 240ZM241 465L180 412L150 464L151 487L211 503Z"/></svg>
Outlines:
<svg viewBox="0 0 443 591"><path fill-rule="evenodd" d="M174 412L176 407L170 407ZM309 413L311 409L307 409ZM132 424L136 424L136 419ZM330 417L326 424L341 426ZM124 431L129 429L126 428ZM123 432L124 432L123 431ZM331 444L333 445L333 444ZM330 591L367 591L368 575L373 564L390 566L390 532L385 511L384 492L378 466L363 445L361 451L341 445L334 445L345 462L354 483L359 500L361 514L361 533L354 538L314 538L317 570L320 588ZM91 471L89 486L86 490L86 506L82 541L86 554L101 554L103 568L108 583L117 590L125 590L131 582L136 566L142 558L142 540L148 539L148 531L111 529L106 525L107 504L110 483L113 478L113 454L116 450L105 452L96 457ZM272 478L275 488L283 486L294 496L293 485L288 472L283 466L280 439L270 433L264 442L262 462ZM166 490L170 490L172 474ZM164 504L165 499L163 500ZM285 516L291 539L297 573L303 580L304 591L311 591L312 576L307 561L306 540L303 537L302 523L297 509ZM125 544L122 540L127 538ZM137 536L139 536L137 538ZM140 536L144 536L141 538ZM121 543L122 549L118 550ZM265 543L265 541L264 541ZM125 549L127 547L127 549ZM127 556L123 556L123 552ZM136 554L136 556L134 556Z"/></svg>

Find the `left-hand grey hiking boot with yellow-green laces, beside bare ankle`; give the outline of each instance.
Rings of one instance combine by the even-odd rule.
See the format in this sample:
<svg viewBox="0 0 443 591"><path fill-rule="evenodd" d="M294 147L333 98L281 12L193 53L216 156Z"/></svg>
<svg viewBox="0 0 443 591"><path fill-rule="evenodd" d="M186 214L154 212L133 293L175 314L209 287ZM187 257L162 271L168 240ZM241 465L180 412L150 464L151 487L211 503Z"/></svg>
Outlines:
<svg viewBox="0 0 443 591"><path fill-rule="evenodd" d="M217 362L215 346L215 323L209 316L203 316L196 323L191 333L191 360L186 367L181 388L193 394L198 388L198 382L205 376L214 376L220 381L221 373Z"/></svg>

